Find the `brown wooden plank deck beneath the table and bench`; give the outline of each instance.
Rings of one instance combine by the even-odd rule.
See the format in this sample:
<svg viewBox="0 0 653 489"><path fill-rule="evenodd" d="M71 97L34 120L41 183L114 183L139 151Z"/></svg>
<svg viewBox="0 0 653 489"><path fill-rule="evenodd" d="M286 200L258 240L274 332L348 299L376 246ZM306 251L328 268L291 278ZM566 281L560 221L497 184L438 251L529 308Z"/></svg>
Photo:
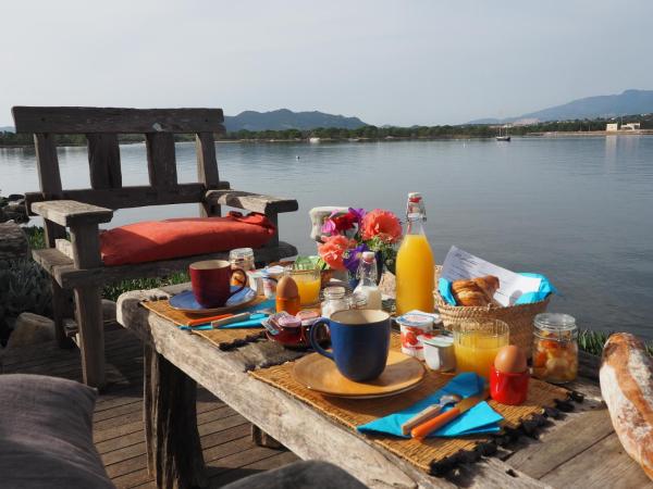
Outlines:
<svg viewBox="0 0 653 489"><path fill-rule="evenodd" d="M94 439L107 473L119 488L155 487L147 473L143 431L143 348L120 327L107 331L108 387L94 416ZM82 379L79 351L54 342L21 349L2 360L3 373L41 374ZM198 391L197 417L211 487L297 460L286 450L257 447L250 424L204 389Z"/></svg>

